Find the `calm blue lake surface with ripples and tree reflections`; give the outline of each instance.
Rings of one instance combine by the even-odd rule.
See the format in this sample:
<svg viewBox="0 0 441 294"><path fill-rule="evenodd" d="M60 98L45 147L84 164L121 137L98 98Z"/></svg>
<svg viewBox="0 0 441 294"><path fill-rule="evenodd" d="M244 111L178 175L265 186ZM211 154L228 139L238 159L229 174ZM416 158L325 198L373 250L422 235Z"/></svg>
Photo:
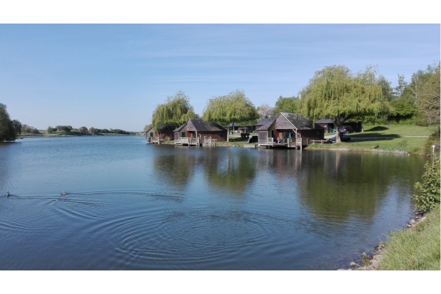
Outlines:
<svg viewBox="0 0 441 294"><path fill-rule="evenodd" d="M134 136L0 143L0 269L348 268L405 227L424 162Z"/></svg>

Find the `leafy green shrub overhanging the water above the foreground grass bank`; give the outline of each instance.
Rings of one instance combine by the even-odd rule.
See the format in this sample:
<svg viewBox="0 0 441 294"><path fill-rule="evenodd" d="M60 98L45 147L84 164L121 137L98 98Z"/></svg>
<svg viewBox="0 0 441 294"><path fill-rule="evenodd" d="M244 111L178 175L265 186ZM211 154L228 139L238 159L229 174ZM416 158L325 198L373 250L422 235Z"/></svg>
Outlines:
<svg viewBox="0 0 441 294"><path fill-rule="evenodd" d="M416 201L415 208L417 210L427 212L431 210L436 203L439 203L440 191L440 166L439 157L432 158L432 162L425 163L425 172L421 176L422 183L417 182L415 189L418 190L418 195L410 196Z"/></svg>

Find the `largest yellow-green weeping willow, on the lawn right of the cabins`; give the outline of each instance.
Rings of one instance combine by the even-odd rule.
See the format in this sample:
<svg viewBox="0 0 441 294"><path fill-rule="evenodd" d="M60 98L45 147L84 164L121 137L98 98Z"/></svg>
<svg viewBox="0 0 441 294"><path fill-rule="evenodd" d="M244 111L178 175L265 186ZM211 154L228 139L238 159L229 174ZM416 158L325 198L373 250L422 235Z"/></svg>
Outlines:
<svg viewBox="0 0 441 294"><path fill-rule="evenodd" d="M339 130L342 122L363 116L379 116L388 111L375 71L352 74L345 66L329 66L317 71L300 92L301 110L312 121L331 119ZM337 142L341 142L337 132Z"/></svg>

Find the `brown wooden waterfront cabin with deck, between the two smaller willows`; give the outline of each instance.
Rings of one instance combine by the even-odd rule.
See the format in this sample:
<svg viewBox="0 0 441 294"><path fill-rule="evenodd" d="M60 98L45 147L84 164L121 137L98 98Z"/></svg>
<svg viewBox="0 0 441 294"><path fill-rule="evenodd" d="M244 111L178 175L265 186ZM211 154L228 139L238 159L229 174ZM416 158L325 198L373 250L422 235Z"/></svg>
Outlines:
<svg viewBox="0 0 441 294"><path fill-rule="evenodd" d="M174 143L200 146L205 140L227 141L227 130L213 122L190 118L174 130Z"/></svg>

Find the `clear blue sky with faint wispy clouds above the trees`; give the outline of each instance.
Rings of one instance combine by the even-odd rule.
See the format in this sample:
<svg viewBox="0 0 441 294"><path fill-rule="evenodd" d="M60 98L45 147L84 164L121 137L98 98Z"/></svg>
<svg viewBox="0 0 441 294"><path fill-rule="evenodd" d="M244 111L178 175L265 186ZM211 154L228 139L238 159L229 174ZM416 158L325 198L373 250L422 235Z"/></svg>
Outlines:
<svg viewBox="0 0 441 294"><path fill-rule="evenodd" d="M434 25L0 25L0 103L46 129L140 131L179 90L202 114L237 89L255 106L295 96L315 71L372 65L392 86L440 59Z"/></svg>

